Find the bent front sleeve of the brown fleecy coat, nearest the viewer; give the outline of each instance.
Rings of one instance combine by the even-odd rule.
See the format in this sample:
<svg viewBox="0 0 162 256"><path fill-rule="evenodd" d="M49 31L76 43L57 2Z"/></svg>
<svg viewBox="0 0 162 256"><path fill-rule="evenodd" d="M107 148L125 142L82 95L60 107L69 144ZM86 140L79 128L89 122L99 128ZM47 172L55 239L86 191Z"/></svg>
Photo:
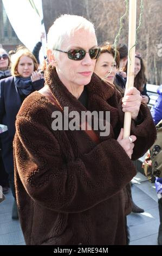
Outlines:
<svg viewBox="0 0 162 256"><path fill-rule="evenodd" d="M45 208L85 211L118 193L136 174L132 161L115 139L98 144L80 158L65 161L54 132L44 124L45 117L33 121L17 116L14 159L15 173L25 190Z"/></svg>

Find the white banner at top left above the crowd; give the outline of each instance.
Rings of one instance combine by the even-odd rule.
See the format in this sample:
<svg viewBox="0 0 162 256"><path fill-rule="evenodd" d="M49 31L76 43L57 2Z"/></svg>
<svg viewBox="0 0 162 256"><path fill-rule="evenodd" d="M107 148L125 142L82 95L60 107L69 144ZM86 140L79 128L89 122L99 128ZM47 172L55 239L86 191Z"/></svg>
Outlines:
<svg viewBox="0 0 162 256"><path fill-rule="evenodd" d="M40 57L46 55L46 32L43 22L42 0L2 0L2 2L18 39L30 51L33 51L36 43L40 41L41 33L45 33Z"/></svg>

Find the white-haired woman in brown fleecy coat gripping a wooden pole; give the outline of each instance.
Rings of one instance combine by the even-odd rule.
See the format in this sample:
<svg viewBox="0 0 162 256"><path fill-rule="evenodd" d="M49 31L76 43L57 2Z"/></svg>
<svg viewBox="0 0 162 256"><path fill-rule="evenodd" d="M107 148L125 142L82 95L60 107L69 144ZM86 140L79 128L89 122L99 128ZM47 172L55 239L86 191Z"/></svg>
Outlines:
<svg viewBox="0 0 162 256"><path fill-rule="evenodd" d="M125 245L125 186L136 173L130 158L138 159L155 139L150 111L137 89L121 100L93 74L100 48L85 18L59 17L49 29L47 54L46 86L24 100L16 120L16 196L25 242ZM123 139L126 111L131 136ZM88 121L82 121L85 113Z"/></svg>

